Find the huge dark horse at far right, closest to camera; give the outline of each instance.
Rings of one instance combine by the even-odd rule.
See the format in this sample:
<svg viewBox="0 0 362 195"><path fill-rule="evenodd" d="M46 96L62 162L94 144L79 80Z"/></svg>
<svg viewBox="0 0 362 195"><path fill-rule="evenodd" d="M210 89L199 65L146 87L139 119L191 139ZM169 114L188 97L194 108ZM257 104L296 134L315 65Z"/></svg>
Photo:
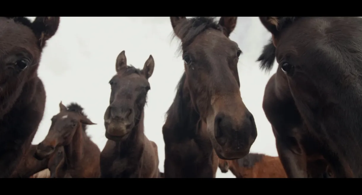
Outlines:
<svg viewBox="0 0 362 195"><path fill-rule="evenodd" d="M362 177L362 18L260 20L272 34L261 68L279 64L263 109L288 177L319 177L328 164L336 177Z"/></svg>

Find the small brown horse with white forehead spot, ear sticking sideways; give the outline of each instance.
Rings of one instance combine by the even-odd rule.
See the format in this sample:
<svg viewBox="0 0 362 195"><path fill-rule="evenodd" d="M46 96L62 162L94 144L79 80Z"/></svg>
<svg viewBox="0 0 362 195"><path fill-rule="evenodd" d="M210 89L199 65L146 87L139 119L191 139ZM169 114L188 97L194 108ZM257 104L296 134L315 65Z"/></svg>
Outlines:
<svg viewBox="0 0 362 195"><path fill-rule="evenodd" d="M51 118L48 134L37 145L34 157L41 161L56 154L54 164L59 172L54 174L60 178L100 177L101 151L85 132L87 125L96 123L89 120L77 103L66 107L60 102L59 108L60 112Z"/></svg>

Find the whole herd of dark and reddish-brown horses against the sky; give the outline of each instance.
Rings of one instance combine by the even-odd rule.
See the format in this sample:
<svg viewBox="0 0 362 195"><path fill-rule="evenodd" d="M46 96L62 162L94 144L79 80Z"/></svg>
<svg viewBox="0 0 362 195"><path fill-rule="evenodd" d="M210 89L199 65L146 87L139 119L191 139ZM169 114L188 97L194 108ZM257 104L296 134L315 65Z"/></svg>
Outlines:
<svg viewBox="0 0 362 195"><path fill-rule="evenodd" d="M170 17L185 71L162 128L161 173L144 135L151 55L137 69L119 53L102 151L77 103L60 102L31 145L46 100L37 69L60 17L0 17L0 178L215 178L218 167L238 178L362 177L362 18L259 18L272 36L257 61L265 70L278 62L262 108L279 156L249 153L257 129L240 94L242 51L229 39L237 17Z"/></svg>

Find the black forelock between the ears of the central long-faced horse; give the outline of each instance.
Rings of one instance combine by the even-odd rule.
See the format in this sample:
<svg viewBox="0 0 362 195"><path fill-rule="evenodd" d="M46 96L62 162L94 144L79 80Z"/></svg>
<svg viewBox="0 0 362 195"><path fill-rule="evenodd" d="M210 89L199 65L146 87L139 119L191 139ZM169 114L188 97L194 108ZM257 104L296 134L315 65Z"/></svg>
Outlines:
<svg viewBox="0 0 362 195"><path fill-rule="evenodd" d="M218 22L215 21L216 17L194 17L182 21L177 25L176 33L173 34L174 38L177 36L182 40L179 51L185 50L185 48L190 45L194 38L201 34L207 29L215 29L222 31Z"/></svg>

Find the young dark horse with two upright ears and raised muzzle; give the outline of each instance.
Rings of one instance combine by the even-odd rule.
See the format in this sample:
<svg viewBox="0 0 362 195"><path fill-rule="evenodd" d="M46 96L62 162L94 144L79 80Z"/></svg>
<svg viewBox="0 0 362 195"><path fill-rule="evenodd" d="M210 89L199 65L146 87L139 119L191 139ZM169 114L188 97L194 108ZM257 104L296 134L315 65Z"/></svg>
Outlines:
<svg viewBox="0 0 362 195"><path fill-rule="evenodd" d="M159 177L157 145L144 135L143 124L154 66L151 55L142 70L127 66L125 51L117 57L117 74L109 81L109 107L104 113L108 141L101 153L103 178Z"/></svg>

